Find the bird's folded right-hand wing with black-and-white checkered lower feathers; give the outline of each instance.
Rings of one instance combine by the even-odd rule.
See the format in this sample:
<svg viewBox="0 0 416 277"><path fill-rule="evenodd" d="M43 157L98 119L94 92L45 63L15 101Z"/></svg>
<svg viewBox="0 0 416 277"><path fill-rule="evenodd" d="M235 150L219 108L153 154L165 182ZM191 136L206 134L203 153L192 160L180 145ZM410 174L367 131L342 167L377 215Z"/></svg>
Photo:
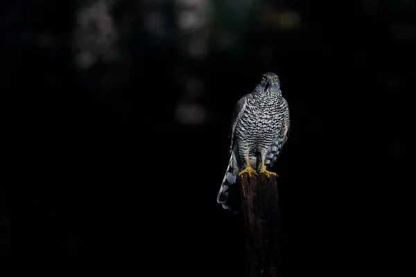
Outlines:
<svg viewBox="0 0 416 277"><path fill-rule="evenodd" d="M289 106L286 100L284 100L284 114L281 118L282 121L282 128L277 136L276 141L272 144L270 148L270 152L266 157L265 165L267 168L271 168L275 165L277 158L280 155L281 148L283 147L284 143L288 140L289 130L291 129L291 119L289 113Z"/></svg>

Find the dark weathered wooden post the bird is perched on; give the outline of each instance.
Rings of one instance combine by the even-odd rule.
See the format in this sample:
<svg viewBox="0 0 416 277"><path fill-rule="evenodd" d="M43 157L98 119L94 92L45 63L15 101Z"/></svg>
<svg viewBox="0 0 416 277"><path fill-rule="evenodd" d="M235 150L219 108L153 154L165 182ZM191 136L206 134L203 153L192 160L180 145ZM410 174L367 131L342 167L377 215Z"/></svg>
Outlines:
<svg viewBox="0 0 416 277"><path fill-rule="evenodd" d="M279 262L277 177L241 176L241 198L247 230L248 276L276 277Z"/></svg>

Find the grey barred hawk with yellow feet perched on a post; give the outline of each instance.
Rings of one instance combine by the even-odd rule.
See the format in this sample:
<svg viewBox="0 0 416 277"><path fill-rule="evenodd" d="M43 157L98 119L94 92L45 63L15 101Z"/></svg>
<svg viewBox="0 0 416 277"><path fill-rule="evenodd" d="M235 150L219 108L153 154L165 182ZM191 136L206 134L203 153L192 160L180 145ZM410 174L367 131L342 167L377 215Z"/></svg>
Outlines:
<svg viewBox="0 0 416 277"><path fill-rule="evenodd" d="M254 90L234 107L229 132L229 163L218 192L218 204L233 211L227 203L231 193L228 190L244 173L250 177L258 173L267 177L276 175L268 169L279 157L290 126L289 107L281 95L279 76L265 73Z"/></svg>

